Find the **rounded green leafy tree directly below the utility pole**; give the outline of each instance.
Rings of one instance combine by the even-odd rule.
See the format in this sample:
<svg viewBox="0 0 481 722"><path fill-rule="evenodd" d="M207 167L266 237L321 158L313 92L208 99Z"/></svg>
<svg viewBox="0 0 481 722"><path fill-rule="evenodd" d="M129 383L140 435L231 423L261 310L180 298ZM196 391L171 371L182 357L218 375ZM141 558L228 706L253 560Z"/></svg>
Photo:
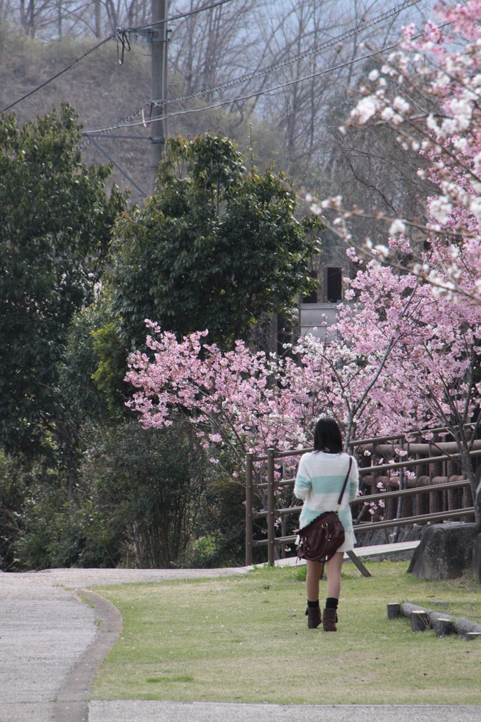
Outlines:
<svg viewBox="0 0 481 722"><path fill-rule="evenodd" d="M220 135L170 139L157 191L116 224L112 308L126 346L144 342L144 319L209 342L247 339L265 314L292 313L312 288L318 224L295 217L284 176L246 172Z"/></svg>

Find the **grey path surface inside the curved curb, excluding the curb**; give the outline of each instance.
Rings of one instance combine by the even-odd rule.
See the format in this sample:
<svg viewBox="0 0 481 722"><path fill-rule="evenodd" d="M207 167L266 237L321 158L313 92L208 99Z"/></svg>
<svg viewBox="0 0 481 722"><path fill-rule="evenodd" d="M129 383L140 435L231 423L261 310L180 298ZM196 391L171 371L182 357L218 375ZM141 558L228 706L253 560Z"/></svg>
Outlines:
<svg viewBox="0 0 481 722"><path fill-rule="evenodd" d="M74 595L1 574L1 722L55 721L53 700L95 634L95 610Z"/></svg>

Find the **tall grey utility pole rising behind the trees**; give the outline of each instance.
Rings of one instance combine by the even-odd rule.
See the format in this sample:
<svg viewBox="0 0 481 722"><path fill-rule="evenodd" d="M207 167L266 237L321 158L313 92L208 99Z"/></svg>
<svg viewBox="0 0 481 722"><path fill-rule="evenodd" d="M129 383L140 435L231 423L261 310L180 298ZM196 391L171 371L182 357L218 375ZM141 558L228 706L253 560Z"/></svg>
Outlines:
<svg viewBox="0 0 481 722"><path fill-rule="evenodd" d="M152 100L167 100L167 17L168 0L152 0L152 23L161 22L159 25L152 25ZM168 134L168 123L165 116L165 107L152 105L150 129L152 135L150 155L150 182L151 192L155 193L157 173L160 160L165 151L165 138Z"/></svg>

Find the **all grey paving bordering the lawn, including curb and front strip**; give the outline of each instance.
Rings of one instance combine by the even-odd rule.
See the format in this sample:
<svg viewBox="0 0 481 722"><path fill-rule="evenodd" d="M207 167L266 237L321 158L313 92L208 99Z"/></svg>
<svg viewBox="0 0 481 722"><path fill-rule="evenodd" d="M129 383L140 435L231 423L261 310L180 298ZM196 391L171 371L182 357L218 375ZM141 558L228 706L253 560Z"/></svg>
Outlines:
<svg viewBox="0 0 481 722"><path fill-rule="evenodd" d="M244 573L243 568L0 573L0 722L352 722L353 710L356 722L480 721L481 706L87 702L121 617L86 587Z"/></svg>

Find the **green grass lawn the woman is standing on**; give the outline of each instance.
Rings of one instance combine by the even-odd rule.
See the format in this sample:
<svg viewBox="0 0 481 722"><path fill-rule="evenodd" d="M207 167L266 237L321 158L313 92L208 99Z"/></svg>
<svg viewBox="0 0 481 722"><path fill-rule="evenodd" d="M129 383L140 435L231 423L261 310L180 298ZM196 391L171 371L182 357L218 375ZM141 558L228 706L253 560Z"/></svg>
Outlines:
<svg viewBox="0 0 481 722"><path fill-rule="evenodd" d="M481 704L481 640L388 621L412 601L481 622L471 576L420 582L405 562L345 565L337 633L308 630L305 567L96 587L123 617L92 699L308 704ZM321 601L325 581L321 582Z"/></svg>

